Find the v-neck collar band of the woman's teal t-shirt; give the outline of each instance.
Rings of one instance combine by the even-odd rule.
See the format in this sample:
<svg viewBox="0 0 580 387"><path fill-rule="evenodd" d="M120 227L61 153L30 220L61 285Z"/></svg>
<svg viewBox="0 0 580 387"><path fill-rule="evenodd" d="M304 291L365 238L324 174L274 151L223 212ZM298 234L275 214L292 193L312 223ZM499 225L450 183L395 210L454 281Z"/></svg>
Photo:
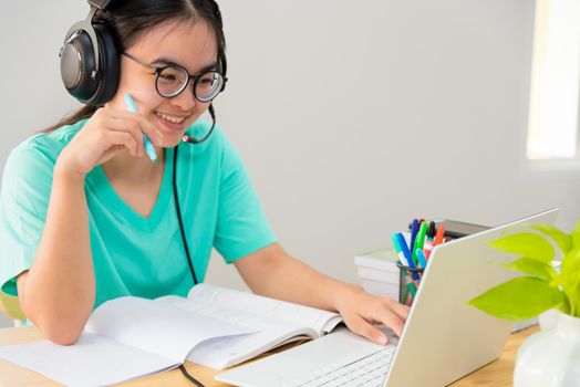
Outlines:
<svg viewBox="0 0 580 387"><path fill-rule="evenodd" d="M94 182L93 188L95 195L97 195L104 203L110 206L111 209L115 210L115 212L120 213L136 228L145 231L154 230L162 220L172 196L173 151L173 148L165 149L165 166L162 185L155 205L148 217L144 217L135 211L117 195L101 165L95 167L91 174Z"/></svg>

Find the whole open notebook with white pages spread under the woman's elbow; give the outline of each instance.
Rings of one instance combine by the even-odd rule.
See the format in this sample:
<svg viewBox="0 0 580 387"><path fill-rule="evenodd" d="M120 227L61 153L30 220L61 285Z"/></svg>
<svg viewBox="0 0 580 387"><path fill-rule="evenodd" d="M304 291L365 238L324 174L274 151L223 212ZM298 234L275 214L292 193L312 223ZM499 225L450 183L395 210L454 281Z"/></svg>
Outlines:
<svg viewBox="0 0 580 387"><path fill-rule="evenodd" d="M198 284L187 297L107 301L74 345L0 346L0 358L69 386L102 386L172 369L186 358L221 369L319 337L340 322L336 313Z"/></svg>

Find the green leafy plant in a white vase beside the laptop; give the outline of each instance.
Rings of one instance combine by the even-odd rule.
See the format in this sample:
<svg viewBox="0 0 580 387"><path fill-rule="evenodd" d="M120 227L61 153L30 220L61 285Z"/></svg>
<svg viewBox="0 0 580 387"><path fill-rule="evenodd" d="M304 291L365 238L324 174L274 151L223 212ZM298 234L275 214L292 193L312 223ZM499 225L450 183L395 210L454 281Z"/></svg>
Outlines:
<svg viewBox="0 0 580 387"><path fill-rule="evenodd" d="M530 335L519 347L515 387L580 386L580 222L570 233L548 224L490 242L519 258L506 268L522 273L470 300L499 318L525 321L556 310L552 328ZM552 265L561 258L560 270Z"/></svg>

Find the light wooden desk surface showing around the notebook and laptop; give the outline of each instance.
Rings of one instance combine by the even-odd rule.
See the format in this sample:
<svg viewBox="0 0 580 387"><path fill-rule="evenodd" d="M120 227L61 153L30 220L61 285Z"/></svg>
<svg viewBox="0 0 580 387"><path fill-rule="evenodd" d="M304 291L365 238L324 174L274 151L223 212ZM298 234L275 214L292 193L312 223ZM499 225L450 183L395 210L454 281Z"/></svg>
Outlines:
<svg viewBox="0 0 580 387"><path fill-rule="evenodd" d="M487 366L465 376L464 378L452 384L453 387L465 386L511 386L514 375L514 364L516 353L519 344L530 334L538 331L537 326L524 330L512 334L501 356L488 364ZM42 338L40 332L35 327L19 327L19 328L1 328L0 330L0 345L30 343ZM229 386L214 380L216 370L206 368L193 363L187 363L187 369L191 375L198 378L206 386L225 387ZM0 359L0 385L2 386L34 386L49 387L60 386L60 384L45 378L44 376L34 372L21 368L9 362ZM178 369L167 373L156 374L146 378L141 378L123 386L193 386Z"/></svg>

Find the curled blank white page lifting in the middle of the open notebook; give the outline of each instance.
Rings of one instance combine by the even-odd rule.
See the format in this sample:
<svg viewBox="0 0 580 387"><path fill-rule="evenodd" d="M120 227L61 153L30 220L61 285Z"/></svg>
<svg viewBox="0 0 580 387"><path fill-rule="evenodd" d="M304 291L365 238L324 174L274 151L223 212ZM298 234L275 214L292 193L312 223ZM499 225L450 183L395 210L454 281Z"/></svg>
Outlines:
<svg viewBox="0 0 580 387"><path fill-rule="evenodd" d="M99 306L86 324L86 332L180 364L194 346L208 338L250 331L167 303L126 296Z"/></svg>

